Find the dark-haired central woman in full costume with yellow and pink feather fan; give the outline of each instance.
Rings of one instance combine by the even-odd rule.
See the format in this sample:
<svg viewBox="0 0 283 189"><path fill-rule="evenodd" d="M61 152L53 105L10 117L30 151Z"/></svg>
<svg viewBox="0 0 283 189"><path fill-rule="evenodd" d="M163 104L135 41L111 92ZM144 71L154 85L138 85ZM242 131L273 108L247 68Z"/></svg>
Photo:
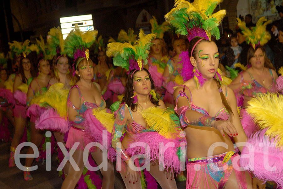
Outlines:
<svg viewBox="0 0 283 189"><path fill-rule="evenodd" d="M109 43L106 51L108 56L114 56L114 65L130 71L125 87L125 97L114 113L115 123L112 132L112 147L119 156L116 169L121 170L120 174L126 188L145 187L143 176L148 172L140 171L140 166L151 165L149 173L162 188L177 188L173 172L180 172L180 161L176 153L180 147L179 134L181 130L171 120L170 112L164 110L166 106L155 93L151 75L147 69L143 68L143 65L147 63L147 49L150 48L150 41L154 37L154 34L144 35L141 30L140 39L136 40L133 45L130 43ZM125 133L125 136L121 145L122 133ZM174 141L175 145L165 151L163 160L159 159L159 142L167 143L169 141ZM149 154L140 146L130 147L131 144L139 142L148 145ZM145 154L148 161L130 158L137 154ZM123 160L122 164L119 160ZM163 163L168 172L159 171L159 166L156 163L153 165L150 160L159 160L159 163ZM138 171L132 170L133 164L137 166ZM150 174L148 177L152 177ZM154 182L154 179L153 183L147 182L148 187L157 188L157 184Z"/></svg>

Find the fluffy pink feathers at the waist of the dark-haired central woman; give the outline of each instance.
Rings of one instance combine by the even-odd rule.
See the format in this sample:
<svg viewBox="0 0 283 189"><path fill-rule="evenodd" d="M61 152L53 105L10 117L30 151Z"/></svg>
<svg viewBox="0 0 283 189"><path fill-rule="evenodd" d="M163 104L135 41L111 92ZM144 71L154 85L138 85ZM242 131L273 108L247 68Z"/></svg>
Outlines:
<svg viewBox="0 0 283 189"><path fill-rule="evenodd" d="M150 159L158 159L159 163L162 163L166 170L170 167L175 172L180 173L181 165L180 160L177 155L178 148L180 147L180 143L186 143L185 138L175 138L175 139L166 139L161 136L158 132L142 132L138 134L134 134L131 142L138 143L142 141L143 143L147 143L150 148ZM169 142L175 143L175 147L169 147L165 150L164 154L161 154L164 158L164 161L161 161L161 157L159 157L159 144L164 143L166 145ZM135 154L145 154L146 151L141 146L136 146L134 148L128 148L127 152L129 155Z"/></svg>

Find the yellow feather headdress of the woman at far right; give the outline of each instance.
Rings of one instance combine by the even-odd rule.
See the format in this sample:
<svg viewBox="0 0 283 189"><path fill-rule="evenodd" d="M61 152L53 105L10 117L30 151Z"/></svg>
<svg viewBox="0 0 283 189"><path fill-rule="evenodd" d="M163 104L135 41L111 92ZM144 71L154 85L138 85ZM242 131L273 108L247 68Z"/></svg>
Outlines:
<svg viewBox="0 0 283 189"><path fill-rule="evenodd" d="M247 28L245 22L241 21L239 18L237 18L237 20L238 26L241 28L247 44L252 45L253 49L258 45L264 46L264 44L271 39L270 33L266 31L266 25L271 23L271 20L267 21L265 17L261 17L258 19L256 26L252 27L251 30Z"/></svg>

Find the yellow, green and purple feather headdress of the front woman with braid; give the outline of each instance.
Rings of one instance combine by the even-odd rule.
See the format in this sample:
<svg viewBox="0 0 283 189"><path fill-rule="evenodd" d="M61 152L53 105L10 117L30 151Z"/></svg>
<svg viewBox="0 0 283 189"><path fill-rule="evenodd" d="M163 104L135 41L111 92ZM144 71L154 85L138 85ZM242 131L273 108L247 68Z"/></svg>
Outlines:
<svg viewBox="0 0 283 189"><path fill-rule="evenodd" d="M176 27L176 34L186 35L191 41L194 37L220 38L218 26L226 15L226 10L214 13L216 6L223 0L175 0L175 8L165 15L165 19Z"/></svg>

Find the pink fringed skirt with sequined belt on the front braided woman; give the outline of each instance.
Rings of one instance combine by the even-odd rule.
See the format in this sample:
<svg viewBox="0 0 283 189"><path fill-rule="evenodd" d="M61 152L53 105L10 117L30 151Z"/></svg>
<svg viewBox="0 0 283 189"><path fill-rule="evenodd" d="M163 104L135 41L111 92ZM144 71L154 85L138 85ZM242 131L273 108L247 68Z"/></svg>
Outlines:
<svg viewBox="0 0 283 189"><path fill-rule="evenodd" d="M239 154L235 153L227 161L223 159L227 153L216 156L188 159L187 163L187 183L186 189L205 188L218 189L223 188L234 170L238 188L247 189L246 172L240 169L238 160ZM236 158L236 159L235 159ZM233 159L235 159L233 161Z"/></svg>

